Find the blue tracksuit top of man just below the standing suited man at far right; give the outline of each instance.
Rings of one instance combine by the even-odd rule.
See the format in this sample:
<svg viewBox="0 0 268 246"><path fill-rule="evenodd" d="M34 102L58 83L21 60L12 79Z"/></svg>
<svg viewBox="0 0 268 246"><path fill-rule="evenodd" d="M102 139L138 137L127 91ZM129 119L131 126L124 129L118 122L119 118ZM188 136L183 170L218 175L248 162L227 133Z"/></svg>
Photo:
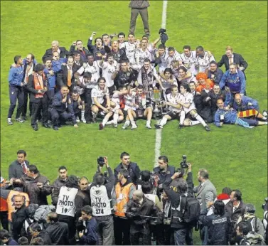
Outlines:
<svg viewBox="0 0 268 246"><path fill-rule="evenodd" d="M227 70L220 80L220 89L223 90L225 86L229 87L232 93L245 94L246 80L244 73L237 70L236 73L232 74L230 70Z"/></svg>

